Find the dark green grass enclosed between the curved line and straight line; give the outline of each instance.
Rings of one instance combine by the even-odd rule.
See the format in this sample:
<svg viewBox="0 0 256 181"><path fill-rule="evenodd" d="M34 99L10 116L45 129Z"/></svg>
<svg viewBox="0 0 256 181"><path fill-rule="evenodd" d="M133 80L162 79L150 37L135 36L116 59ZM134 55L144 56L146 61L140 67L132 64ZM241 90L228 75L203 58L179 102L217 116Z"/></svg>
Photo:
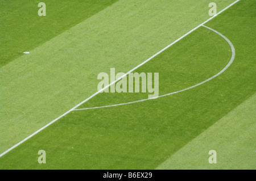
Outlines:
<svg viewBox="0 0 256 181"><path fill-rule="evenodd" d="M195 43L192 44L192 42ZM159 73L159 95L164 95L196 85L217 74L230 61L232 54L230 50L229 44L221 36L201 27L135 72ZM217 59L216 52L218 52ZM110 70L107 72L110 74ZM128 84L129 80L127 79L127 87ZM152 94L149 92L122 94L109 92L102 92L94 96L79 108L147 99L148 94Z"/></svg>

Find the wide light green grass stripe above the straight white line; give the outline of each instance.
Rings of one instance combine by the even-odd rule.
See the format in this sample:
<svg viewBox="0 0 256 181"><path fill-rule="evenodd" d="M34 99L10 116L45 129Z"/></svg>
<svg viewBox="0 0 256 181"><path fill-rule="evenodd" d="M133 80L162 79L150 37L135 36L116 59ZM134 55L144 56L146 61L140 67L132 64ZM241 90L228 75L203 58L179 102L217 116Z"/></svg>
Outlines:
<svg viewBox="0 0 256 181"><path fill-rule="evenodd" d="M127 72L204 22L205 7L208 1L118 1L4 66L1 152L94 94L98 73Z"/></svg>

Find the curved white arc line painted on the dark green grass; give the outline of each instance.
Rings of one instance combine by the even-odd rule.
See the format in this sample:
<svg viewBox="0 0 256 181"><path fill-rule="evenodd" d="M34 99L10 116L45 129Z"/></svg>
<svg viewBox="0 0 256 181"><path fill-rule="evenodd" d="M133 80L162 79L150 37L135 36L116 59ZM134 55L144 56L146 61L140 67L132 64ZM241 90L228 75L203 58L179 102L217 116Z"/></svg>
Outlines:
<svg viewBox="0 0 256 181"><path fill-rule="evenodd" d="M179 93L179 92L183 92L183 91L185 91L185 90L189 90L189 89L192 89L192 88L194 88L194 87L200 86L200 85L202 85L203 83L208 82L208 81L212 80L213 78L217 77L218 75L222 74L226 69L229 68L229 66L230 66L230 65L233 63L233 61L234 61L234 57L236 56L236 50L235 50L235 48L234 48L234 45L231 43L231 41L230 41L227 37L225 37L224 35L222 35L220 32L217 32L216 30L213 30L212 28L209 28L209 27L207 27L207 26L204 26L204 25L202 25L202 26L205 27L205 28L208 28L209 30L211 30L211 31L217 33L218 35L220 35L221 37L223 37L223 38L229 43L230 48L231 48L231 50L232 50L232 57L231 57L230 61L229 61L228 64L225 66L225 68L222 69L219 73L213 75L212 77L206 79L206 80L203 81L203 82L197 83L196 85L193 85L193 86L188 87L188 88L186 88L186 89L179 90L179 91L176 91L176 92L171 92L171 93L164 94L164 95L159 95L159 96L157 96L157 97L155 97L155 98L136 100L136 101L133 101L133 102L121 103L121 104L112 104L112 105L109 105L109 106L81 108L81 109L76 109L76 110L74 110L74 111L91 110L91 109L104 108L104 107L113 107L113 106L121 106L121 105L125 105L125 104L133 104L133 103L143 102L143 101L145 101L145 100L150 100L150 99L162 98L162 97L167 96L167 95L177 94L177 93Z"/></svg>

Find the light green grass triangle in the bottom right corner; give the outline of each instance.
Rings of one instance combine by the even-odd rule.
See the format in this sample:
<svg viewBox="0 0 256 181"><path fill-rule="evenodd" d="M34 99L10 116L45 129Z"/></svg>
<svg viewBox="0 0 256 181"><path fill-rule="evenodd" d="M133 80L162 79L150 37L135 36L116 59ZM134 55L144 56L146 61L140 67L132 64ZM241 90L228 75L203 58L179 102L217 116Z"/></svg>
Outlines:
<svg viewBox="0 0 256 181"><path fill-rule="evenodd" d="M256 169L256 94L189 142L156 169ZM209 150L217 163L208 162Z"/></svg>

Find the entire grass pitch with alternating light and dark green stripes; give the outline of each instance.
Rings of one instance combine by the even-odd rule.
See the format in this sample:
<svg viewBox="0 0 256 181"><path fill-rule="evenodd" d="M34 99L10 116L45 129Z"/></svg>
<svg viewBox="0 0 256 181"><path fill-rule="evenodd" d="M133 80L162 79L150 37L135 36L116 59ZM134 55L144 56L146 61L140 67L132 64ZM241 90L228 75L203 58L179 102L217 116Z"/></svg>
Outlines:
<svg viewBox="0 0 256 181"><path fill-rule="evenodd" d="M0 169L256 169L256 1L209 21L210 2L220 12L235 1L46 0L46 16L39 1L0 2ZM235 52L197 27L205 21ZM159 73L160 96L213 77L235 53L234 61L177 94L111 106L148 92L104 92L82 102L99 73L127 73L175 41L134 70ZM110 107L85 109L101 106Z"/></svg>

